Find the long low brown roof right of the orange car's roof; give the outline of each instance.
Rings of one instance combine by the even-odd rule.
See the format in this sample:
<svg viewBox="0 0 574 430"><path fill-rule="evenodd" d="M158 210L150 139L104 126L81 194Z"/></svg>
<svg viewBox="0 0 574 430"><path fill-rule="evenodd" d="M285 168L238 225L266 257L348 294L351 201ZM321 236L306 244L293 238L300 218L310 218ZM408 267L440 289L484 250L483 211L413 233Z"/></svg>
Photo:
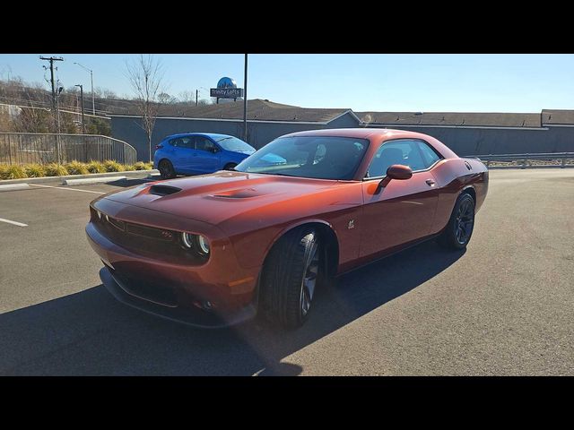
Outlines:
<svg viewBox="0 0 574 430"><path fill-rule="evenodd" d="M491 112L356 112L365 124L540 127L540 114Z"/></svg>

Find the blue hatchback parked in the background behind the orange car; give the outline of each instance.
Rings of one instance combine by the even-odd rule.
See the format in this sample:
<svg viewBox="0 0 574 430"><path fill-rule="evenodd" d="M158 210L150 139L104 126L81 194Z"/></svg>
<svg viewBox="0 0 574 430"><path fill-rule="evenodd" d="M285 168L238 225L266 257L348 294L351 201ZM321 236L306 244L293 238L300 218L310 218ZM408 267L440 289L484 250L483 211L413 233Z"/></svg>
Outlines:
<svg viewBox="0 0 574 430"><path fill-rule="evenodd" d="M162 179L234 168L256 150L234 136L216 133L171 134L155 147L153 168Z"/></svg>

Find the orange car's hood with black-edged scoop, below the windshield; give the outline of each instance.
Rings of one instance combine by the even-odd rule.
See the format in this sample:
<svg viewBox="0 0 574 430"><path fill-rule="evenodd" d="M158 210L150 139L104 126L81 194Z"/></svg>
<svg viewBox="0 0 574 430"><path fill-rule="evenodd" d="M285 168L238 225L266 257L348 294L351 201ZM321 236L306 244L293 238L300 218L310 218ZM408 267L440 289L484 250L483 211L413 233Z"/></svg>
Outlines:
<svg viewBox="0 0 574 430"><path fill-rule="evenodd" d="M309 197L338 181L220 171L137 185L103 198L218 225L246 211Z"/></svg>

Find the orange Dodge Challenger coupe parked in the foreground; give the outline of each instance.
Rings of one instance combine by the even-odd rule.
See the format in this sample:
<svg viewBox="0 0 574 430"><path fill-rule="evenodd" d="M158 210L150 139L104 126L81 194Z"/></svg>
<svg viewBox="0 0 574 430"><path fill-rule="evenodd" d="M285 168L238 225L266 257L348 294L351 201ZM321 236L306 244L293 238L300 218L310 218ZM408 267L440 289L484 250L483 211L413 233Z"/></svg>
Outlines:
<svg viewBox="0 0 574 430"><path fill-rule="evenodd" d="M126 305L201 327L261 314L296 327L335 276L437 238L464 248L488 170L426 134L291 133L233 171L91 202L100 277Z"/></svg>

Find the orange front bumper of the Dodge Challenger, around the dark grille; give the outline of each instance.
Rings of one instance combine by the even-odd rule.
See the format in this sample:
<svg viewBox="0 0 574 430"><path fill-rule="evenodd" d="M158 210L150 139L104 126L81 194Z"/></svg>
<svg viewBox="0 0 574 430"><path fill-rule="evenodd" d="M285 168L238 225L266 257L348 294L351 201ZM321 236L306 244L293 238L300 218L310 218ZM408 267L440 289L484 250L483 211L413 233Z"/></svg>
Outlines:
<svg viewBox="0 0 574 430"><path fill-rule="evenodd" d="M198 265L177 255L132 249L129 241L118 245L90 221L86 226L88 242L107 266L100 277L118 300L200 327L222 327L255 314L257 305L253 302L260 268L241 267L229 239L214 231L213 226L119 202L100 200L92 205L127 222L136 217L153 219L156 225L179 231L200 230L213 239L209 260Z"/></svg>

